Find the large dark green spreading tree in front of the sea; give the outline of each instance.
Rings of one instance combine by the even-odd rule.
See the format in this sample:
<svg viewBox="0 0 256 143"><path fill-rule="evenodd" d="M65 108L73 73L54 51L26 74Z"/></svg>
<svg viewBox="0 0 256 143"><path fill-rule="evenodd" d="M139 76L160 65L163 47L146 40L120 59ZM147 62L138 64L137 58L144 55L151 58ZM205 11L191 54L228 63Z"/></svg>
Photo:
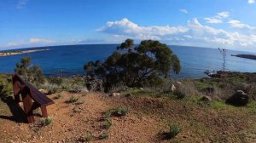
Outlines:
<svg viewBox="0 0 256 143"><path fill-rule="evenodd" d="M84 65L84 70L89 75L104 78L107 88L119 83L142 87L160 83L170 77L171 70L178 74L181 66L177 55L166 44L144 40L135 47L133 40L127 39L103 63L90 61Z"/></svg>

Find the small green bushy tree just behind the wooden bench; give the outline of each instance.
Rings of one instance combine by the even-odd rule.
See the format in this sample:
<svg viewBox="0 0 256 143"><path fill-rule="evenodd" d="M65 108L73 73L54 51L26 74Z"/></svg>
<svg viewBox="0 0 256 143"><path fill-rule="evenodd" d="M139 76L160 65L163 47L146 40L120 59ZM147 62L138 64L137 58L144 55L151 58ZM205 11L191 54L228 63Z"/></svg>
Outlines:
<svg viewBox="0 0 256 143"><path fill-rule="evenodd" d="M22 57L20 62L16 63L15 73L24 78L26 82L39 86L44 83L44 73L39 66L31 65L30 57Z"/></svg>

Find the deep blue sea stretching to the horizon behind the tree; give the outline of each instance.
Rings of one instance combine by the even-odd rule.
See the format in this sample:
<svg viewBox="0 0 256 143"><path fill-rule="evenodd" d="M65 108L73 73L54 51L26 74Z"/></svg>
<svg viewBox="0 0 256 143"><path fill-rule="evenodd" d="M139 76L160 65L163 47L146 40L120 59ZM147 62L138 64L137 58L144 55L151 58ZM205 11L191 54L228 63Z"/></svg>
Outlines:
<svg viewBox="0 0 256 143"><path fill-rule="evenodd" d="M20 58L29 56L32 65L40 66L45 76L70 77L83 75L84 64L88 61L106 60L112 54L117 44L85 44L50 46L30 49L50 49L35 53L15 54L0 57L0 73L13 73ZM218 49L169 46L181 61L180 74L171 74L173 78L207 77L206 71L223 69L223 54ZM16 49L17 50L17 49ZM27 49L18 49L27 50ZM225 69L230 72L256 72L256 60L242 59L231 54L253 54L248 52L227 50Z"/></svg>

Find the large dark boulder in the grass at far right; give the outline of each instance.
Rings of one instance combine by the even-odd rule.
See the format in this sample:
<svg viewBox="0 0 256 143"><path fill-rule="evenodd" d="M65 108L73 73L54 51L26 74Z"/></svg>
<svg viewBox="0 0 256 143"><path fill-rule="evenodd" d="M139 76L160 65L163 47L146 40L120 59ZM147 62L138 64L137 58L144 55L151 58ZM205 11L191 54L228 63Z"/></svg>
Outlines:
<svg viewBox="0 0 256 143"><path fill-rule="evenodd" d="M226 102L233 106L246 106L249 102L249 95L242 90L237 90Z"/></svg>

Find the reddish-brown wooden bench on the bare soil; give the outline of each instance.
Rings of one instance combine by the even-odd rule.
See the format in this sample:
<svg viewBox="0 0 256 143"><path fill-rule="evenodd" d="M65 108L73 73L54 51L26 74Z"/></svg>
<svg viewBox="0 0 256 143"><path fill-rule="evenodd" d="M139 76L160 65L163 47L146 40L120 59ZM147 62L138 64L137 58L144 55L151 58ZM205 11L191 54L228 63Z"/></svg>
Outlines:
<svg viewBox="0 0 256 143"><path fill-rule="evenodd" d="M48 117L46 106L54 104L55 102L53 100L50 100L45 94L38 91L38 89L33 87L32 84L26 83L17 74L13 75L13 87L15 101L17 104L23 102L24 112L28 123L35 122L33 110L38 107L41 108L42 116ZM20 100L20 94L22 100Z"/></svg>

